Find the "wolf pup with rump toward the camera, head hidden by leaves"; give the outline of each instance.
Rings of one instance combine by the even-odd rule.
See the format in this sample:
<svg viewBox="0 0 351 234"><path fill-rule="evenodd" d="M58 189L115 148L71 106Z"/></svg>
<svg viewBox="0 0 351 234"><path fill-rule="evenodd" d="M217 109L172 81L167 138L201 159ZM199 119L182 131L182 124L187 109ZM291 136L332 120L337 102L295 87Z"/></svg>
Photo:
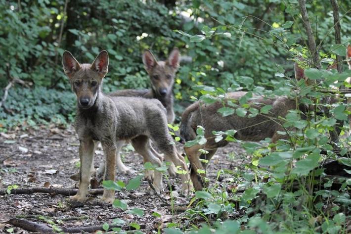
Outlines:
<svg viewBox="0 0 351 234"><path fill-rule="evenodd" d="M245 92L233 92L226 94L226 100L239 100ZM201 190L205 186L202 177L206 174L198 172L203 171L206 164L200 162L200 157L211 160L219 147L225 146L228 141L215 141L212 134L213 131L237 130L235 138L237 140L259 141L265 138L271 138L273 142L286 138L279 135L277 131L284 131L280 125L278 117L285 117L289 110L296 108L294 100L286 97L277 97L275 99L264 99L263 97L253 97L249 103L252 107L260 109L264 105L271 105L269 113L266 115L257 115L256 117L239 117L238 115L229 115L223 117L218 113L218 109L223 107L221 101L213 104L204 104L195 102L185 109L181 117L180 135L186 140L194 140L196 138L197 126L203 126L205 129L205 138L207 142L204 145L193 145L184 147L185 153L190 161L191 171L190 177L196 190ZM225 139L225 137L223 138ZM202 155L199 149L205 149L208 154Z"/></svg>

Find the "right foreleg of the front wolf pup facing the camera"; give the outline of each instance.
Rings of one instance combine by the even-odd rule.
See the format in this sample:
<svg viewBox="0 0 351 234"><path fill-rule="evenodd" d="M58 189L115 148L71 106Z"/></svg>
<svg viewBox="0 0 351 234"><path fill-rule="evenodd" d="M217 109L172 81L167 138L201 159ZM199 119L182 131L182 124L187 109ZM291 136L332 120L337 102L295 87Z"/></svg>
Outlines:
<svg viewBox="0 0 351 234"><path fill-rule="evenodd" d="M115 181L116 176L116 154L117 154L117 147L115 143L106 143L101 142L102 148L105 152L106 162L105 162L105 175L104 181ZM107 190L104 188L104 193L100 201L104 203L113 203L115 199L115 191L114 190Z"/></svg>

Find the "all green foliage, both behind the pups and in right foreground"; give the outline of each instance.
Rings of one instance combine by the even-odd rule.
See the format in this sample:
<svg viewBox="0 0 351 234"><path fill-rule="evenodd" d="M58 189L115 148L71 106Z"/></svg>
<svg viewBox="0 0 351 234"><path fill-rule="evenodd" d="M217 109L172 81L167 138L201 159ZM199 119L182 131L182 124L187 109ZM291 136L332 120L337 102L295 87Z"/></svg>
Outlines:
<svg viewBox="0 0 351 234"><path fill-rule="evenodd" d="M187 213L189 222L206 221L218 233L237 233L246 228L256 233L348 232L351 180L340 180L341 186L332 189L334 179L318 169L318 162L337 158L326 137L335 123L345 121L342 134L349 131L347 105L342 100L332 104L321 100L335 96L333 92L326 94L333 85L347 85L344 81L350 73L309 70L310 78L318 82L312 87L290 79L294 76L292 59L298 54L308 58L307 36L297 0L110 2L0 0L0 88L3 90L12 78L25 81L9 90L0 110L1 131L49 122L66 125L72 121L75 96L61 66L64 50L71 51L79 61L91 62L100 50L107 49L110 66L104 91L111 92L149 87L141 61L144 49L166 58L173 47L178 47L190 61L183 60L176 76L177 118L191 99L204 94L211 101L228 88L278 95L291 94L299 88L303 92L293 97L315 107L307 119L302 119L298 110L286 116L286 126L297 131L291 142L278 144L277 151L272 150L275 146L244 143L247 153L253 155L245 171L219 172L244 178L238 185L245 188L244 192L238 195L236 187L228 194L225 189L212 187L196 193L192 200L196 207ZM323 68L333 62L336 54L345 59L346 46L351 42L351 2L338 3L341 46L334 45L330 1L309 0L306 4ZM346 62L342 64L347 70ZM325 112L326 115L316 116L317 106L329 108L333 115ZM247 111L258 114L257 110L246 110L248 106L242 107L244 116ZM350 142L350 137L344 138L337 145L343 155ZM321 156L321 150L327 153ZM351 166L350 156L343 164ZM314 192L316 187L319 190ZM262 194L264 201L258 200ZM238 207L246 211L245 215L235 222L221 223L232 218ZM177 224L174 227L180 228ZM255 233L251 231L247 233ZM204 226L199 233L211 231Z"/></svg>

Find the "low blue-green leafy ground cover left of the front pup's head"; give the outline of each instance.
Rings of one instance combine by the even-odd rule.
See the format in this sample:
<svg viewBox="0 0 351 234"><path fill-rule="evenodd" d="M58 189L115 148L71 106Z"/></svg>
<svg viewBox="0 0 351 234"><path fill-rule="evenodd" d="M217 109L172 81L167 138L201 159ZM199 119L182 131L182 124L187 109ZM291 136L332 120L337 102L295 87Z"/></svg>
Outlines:
<svg viewBox="0 0 351 234"><path fill-rule="evenodd" d="M66 125L73 121L76 98L68 91L16 88L9 91L5 106L10 113L0 112L0 129L50 122Z"/></svg>

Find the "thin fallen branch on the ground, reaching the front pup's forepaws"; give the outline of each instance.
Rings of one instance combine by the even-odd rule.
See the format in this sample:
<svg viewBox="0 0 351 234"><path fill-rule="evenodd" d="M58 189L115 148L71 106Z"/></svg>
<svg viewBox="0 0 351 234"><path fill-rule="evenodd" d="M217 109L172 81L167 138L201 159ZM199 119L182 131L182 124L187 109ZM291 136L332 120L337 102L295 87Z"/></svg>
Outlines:
<svg viewBox="0 0 351 234"><path fill-rule="evenodd" d="M88 193L90 195L102 195L104 189L90 189ZM78 192L77 188L48 188L48 187L29 187L29 188L15 188L11 189L10 194L32 194L32 193L49 193L51 195L64 195L64 196L72 196L76 195ZM7 194L6 190L0 190L0 195Z"/></svg>

